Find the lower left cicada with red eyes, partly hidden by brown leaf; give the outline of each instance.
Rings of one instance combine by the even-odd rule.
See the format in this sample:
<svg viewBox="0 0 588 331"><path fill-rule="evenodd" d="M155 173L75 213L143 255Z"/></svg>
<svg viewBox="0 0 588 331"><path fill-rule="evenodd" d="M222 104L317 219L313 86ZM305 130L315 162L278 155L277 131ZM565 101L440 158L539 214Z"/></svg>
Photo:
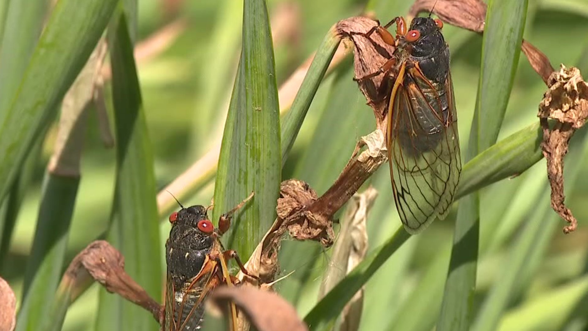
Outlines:
<svg viewBox="0 0 588 331"><path fill-rule="evenodd" d="M220 236L229 229L230 218L238 206L219 220L215 229L208 219L208 208L192 206L172 213L172 229L165 244L168 276L165 294L166 331L199 330L204 317L204 302L208 294L221 284L233 284L226 260L235 259L243 273L251 276L233 250L225 250ZM255 277L254 277L255 278ZM230 307L230 328L236 330L236 309Z"/></svg>

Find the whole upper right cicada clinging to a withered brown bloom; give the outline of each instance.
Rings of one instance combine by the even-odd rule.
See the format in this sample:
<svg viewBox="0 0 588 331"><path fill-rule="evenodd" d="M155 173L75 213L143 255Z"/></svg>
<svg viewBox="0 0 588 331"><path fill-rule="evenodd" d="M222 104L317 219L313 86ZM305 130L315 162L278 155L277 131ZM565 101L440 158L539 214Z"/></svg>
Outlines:
<svg viewBox="0 0 588 331"><path fill-rule="evenodd" d="M387 28L396 24L396 37ZM439 19L397 17L370 29L395 47L392 57L365 80L386 73L390 91L386 145L396 209L416 234L444 219L455 196L462 163L457 134L449 47Z"/></svg>

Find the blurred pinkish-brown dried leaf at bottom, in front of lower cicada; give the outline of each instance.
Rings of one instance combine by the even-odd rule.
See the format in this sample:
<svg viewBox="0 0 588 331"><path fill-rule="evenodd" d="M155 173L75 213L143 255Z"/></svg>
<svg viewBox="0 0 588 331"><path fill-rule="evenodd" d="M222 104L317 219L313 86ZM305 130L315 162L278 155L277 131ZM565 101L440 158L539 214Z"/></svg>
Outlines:
<svg viewBox="0 0 588 331"><path fill-rule="evenodd" d="M273 292L252 286L220 287L211 294L211 299L218 306L235 303L259 331L308 330L296 310Z"/></svg>

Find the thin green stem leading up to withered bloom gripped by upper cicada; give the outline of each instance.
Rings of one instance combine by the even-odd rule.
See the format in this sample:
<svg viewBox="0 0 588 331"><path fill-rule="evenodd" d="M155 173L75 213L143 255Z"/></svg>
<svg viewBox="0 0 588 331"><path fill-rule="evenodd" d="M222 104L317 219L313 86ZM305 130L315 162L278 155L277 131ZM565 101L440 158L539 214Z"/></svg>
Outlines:
<svg viewBox="0 0 588 331"><path fill-rule="evenodd" d="M329 29L325 39L323 39L319 49L316 51L315 58L312 59L312 64L310 64L308 72L300 85L300 90L298 90L292 102L290 111L282 119L282 164L288 158L288 151L290 151L296 140L298 131L300 131L302 122L306 117L306 112L315 97L320 81L325 77L325 72L333 55L335 55L339 42L340 38L336 32Z"/></svg>

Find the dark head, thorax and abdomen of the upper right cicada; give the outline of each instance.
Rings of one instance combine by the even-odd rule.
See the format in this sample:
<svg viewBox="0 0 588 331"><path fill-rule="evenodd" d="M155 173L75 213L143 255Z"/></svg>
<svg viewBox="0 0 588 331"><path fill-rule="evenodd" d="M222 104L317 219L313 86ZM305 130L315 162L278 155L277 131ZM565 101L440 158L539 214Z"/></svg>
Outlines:
<svg viewBox="0 0 588 331"><path fill-rule="evenodd" d="M392 130L407 156L435 149L445 138L446 127L456 121L450 109L453 95L447 93L449 47L437 24L431 18L413 19L408 33L417 34L416 40L401 38L395 52L400 59L398 71L405 71L399 82L403 88L397 93L406 95L399 95L393 102L407 104L391 105L390 109L411 111L399 115ZM413 97L416 94L421 98Z"/></svg>

